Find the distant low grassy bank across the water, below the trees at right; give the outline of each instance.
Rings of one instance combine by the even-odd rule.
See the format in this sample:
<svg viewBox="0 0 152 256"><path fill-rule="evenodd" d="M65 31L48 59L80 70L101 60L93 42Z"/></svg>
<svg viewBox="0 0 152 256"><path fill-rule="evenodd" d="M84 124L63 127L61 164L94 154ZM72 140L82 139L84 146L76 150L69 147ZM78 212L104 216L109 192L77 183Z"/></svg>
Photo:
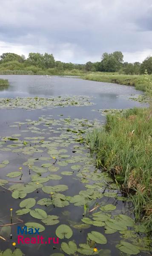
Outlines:
<svg viewBox="0 0 152 256"><path fill-rule="evenodd" d="M152 78L152 75L150 76ZM86 80L135 86L137 90L146 90L144 75L119 75L117 73L91 73L82 77Z"/></svg>

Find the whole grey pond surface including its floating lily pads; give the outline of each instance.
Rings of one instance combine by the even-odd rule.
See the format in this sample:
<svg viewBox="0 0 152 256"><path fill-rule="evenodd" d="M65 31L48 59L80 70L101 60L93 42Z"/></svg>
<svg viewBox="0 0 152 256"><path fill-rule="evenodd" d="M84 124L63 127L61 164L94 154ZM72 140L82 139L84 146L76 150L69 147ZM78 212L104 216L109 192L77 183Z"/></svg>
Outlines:
<svg viewBox="0 0 152 256"><path fill-rule="evenodd" d="M95 169L84 143L86 132L106 120L99 109L144 106L129 99L143 92L72 77L0 78L10 83L0 90L0 225L10 224L11 208L12 223L19 222L0 226L6 239L0 239L0 250L14 251L17 226L36 223L44 241L59 236L59 244L17 244L27 256L148 255L138 232L143 227L131 219L132 204L112 177ZM22 255L17 249L15 255Z"/></svg>

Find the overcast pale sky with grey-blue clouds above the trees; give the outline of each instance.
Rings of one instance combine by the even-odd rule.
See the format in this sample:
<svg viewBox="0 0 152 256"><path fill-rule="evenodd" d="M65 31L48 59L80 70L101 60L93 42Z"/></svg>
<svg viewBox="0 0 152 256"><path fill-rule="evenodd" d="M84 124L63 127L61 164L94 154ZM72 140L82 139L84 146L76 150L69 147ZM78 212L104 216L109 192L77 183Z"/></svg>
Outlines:
<svg viewBox="0 0 152 256"><path fill-rule="evenodd" d="M152 55L152 0L0 0L0 55L53 53L73 63Z"/></svg>

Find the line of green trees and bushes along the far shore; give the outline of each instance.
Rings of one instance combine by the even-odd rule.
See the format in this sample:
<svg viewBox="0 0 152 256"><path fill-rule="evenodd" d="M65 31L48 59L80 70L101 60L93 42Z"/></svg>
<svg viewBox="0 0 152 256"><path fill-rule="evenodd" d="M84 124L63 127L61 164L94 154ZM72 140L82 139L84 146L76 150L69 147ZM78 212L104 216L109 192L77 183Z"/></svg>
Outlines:
<svg viewBox="0 0 152 256"><path fill-rule="evenodd" d="M81 70L83 72L119 72L121 74L138 75L145 70L152 74L152 56L148 56L142 63L128 63L123 61L122 52L104 52L101 60L88 61L86 64L65 63L55 61L53 54L30 52L26 59L24 55L6 52L0 56L0 70L29 70L37 73L43 70Z"/></svg>

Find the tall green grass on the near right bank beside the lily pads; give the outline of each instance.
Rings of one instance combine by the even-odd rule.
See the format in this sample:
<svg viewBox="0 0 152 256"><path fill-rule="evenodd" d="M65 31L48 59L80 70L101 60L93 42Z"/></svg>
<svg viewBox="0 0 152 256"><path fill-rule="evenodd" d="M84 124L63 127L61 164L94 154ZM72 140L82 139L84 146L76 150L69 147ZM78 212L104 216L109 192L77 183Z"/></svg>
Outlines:
<svg viewBox="0 0 152 256"><path fill-rule="evenodd" d="M134 108L107 115L103 128L87 135L97 166L111 172L121 188L131 192L136 220L152 228L152 117Z"/></svg>

